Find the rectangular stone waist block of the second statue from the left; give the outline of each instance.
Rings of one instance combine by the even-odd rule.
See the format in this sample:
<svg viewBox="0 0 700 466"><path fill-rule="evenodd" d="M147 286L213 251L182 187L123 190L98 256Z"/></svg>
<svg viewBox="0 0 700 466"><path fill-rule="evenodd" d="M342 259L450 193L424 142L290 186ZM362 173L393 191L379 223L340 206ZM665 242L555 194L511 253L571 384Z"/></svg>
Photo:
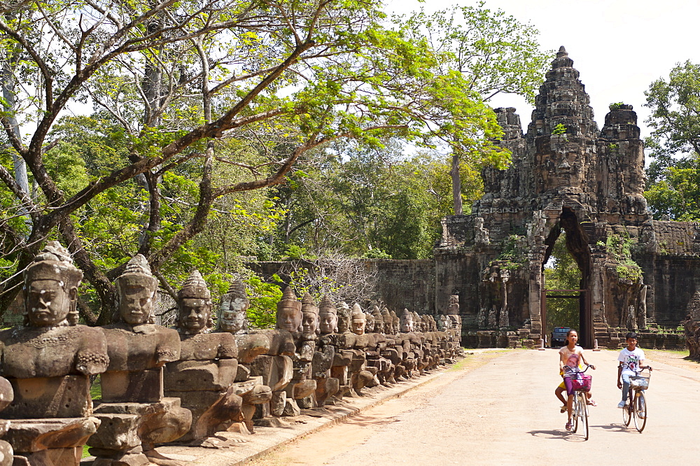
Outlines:
<svg viewBox="0 0 700 466"><path fill-rule="evenodd" d="M99 376L104 403L153 403L163 398L163 368L110 371Z"/></svg>

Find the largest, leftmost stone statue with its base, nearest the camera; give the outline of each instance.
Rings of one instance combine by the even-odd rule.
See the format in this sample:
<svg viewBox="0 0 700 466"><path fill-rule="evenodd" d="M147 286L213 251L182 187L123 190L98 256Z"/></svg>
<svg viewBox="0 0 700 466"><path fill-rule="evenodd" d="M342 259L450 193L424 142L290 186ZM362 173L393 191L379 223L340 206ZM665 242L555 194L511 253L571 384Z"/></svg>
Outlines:
<svg viewBox="0 0 700 466"><path fill-rule="evenodd" d="M1 387L0 405L14 393L3 412L13 421L3 428L15 464L78 465L100 425L90 376L104 372L109 357L102 331L77 325L82 278L68 251L50 241L25 270L24 325L0 332L1 375L10 383Z"/></svg>

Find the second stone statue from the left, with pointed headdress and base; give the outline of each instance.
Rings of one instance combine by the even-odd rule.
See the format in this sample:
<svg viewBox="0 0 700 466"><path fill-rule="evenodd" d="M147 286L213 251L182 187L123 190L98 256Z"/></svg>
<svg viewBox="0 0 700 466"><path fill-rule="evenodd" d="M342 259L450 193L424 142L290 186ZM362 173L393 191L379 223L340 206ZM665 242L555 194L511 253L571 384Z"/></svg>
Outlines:
<svg viewBox="0 0 700 466"><path fill-rule="evenodd" d="M164 396L163 366L179 360L179 334L153 323L158 279L146 257L132 257L115 284L115 323L103 329L109 367L100 376L102 404L94 411L102 424L90 437L90 451L99 466L146 465L149 460L177 464L162 458L155 444L179 439L192 422L192 414L180 406L179 398ZM198 325L206 327L202 323Z"/></svg>

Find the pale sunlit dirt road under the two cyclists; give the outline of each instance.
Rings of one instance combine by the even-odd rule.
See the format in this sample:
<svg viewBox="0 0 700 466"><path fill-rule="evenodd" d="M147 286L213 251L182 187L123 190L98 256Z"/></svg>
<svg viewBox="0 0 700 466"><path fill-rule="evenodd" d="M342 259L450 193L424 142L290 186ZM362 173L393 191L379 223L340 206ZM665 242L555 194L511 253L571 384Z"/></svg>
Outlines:
<svg viewBox="0 0 700 466"><path fill-rule="evenodd" d="M564 430L554 387L556 350L477 353L397 400L316 432L254 465L521 465L568 461L657 465L700 456L700 372L648 360L649 418L642 434L616 408L617 352L586 351L593 374L590 439ZM680 359L680 358L679 358ZM694 363L690 363L694 364ZM637 451L636 458L631 458Z"/></svg>

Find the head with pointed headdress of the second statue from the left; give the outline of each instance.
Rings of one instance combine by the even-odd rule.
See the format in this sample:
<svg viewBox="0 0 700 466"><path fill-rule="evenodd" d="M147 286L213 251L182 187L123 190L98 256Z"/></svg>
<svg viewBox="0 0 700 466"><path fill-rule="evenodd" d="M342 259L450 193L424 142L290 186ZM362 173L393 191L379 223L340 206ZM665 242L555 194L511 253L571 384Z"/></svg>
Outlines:
<svg viewBox="0 0 700 466"><path fill-rule="evenodd" d="M118 312L114 320L129 325L153 323L158 278L151 274L151 266L148 265L146 257L141 254L134 255L114 284L117 287L118 299Z"/></svg>

